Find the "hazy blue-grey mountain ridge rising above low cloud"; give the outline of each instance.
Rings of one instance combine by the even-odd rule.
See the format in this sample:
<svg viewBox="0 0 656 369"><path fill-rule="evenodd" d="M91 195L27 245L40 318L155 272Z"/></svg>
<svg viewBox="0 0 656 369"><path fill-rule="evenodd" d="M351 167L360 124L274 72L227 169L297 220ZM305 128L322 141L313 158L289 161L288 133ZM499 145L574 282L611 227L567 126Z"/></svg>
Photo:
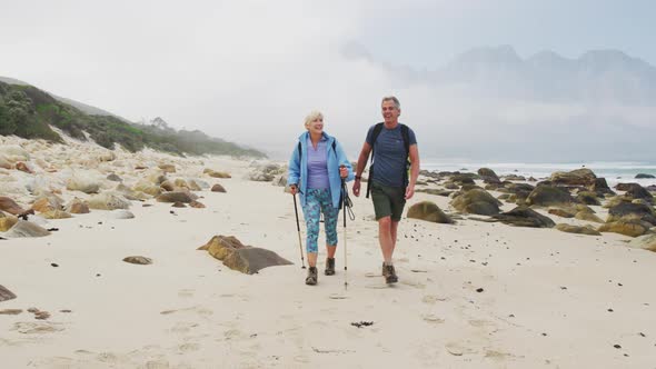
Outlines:
<svg viewBox="0 0 656 369"><path fill-rule="evenodd" d="M358 43L345 46L342 54L377 63ZM577 59L541 51L523 59L500 46L471 49L433 71L378 63L397 86L455 86L495 99L656 106L656 67L618 50L592 50Z"/></svg>

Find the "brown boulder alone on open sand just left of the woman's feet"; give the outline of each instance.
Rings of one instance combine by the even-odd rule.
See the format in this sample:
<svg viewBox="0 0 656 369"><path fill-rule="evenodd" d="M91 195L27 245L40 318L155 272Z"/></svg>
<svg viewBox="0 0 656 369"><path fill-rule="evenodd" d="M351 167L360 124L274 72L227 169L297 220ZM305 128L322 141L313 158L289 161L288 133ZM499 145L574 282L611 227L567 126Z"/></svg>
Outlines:
<svg viewBox="0 0 656 369"><path fill-rule="evenodd" d="M247 275L272 266L291 265L274 251L246 246L232 236L215 236L200 249L208 250L209 255L223 261L226 267Z"/></svg>

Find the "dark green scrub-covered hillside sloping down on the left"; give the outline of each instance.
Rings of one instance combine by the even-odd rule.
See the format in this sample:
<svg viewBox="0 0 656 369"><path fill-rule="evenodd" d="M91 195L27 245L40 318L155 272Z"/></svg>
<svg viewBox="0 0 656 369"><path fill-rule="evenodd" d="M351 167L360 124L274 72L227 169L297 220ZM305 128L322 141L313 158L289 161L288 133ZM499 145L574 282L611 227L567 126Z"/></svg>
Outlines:
<svg viewBox="0 0 656 369"><path fill-rule="evenodd" d="M119 143L130 151L150 147L176 154L266 157L260 151L211 138L200 131L176 131L161 118L156 118L150 124L136 124L112 114L89 114L63 102L71 100L54 98L21 81L2 80L11 82L0 81L0 134L3 136L62 142L61 137L51 129L57 127L82 141L87 140L85 133L88 133L98 144L108 149Z"/></svg>

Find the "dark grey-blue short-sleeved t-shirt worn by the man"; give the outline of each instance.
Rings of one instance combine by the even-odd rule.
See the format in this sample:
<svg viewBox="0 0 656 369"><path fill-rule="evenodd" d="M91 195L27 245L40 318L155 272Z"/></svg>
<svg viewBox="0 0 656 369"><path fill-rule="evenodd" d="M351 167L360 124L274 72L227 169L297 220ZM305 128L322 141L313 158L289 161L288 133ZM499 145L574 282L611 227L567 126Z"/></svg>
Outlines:
<svg viewBox="0 0 656 369"><path fill-rule="evenodd" d="M382 186L406 187L404 183L404 171L406 171L406 147L401 133L401 123L394 129L382 126L376 142L374 128L367 132L367 143L374 148L374 181ZM408 127L409 146L417 144L415 132Z"/></svg>

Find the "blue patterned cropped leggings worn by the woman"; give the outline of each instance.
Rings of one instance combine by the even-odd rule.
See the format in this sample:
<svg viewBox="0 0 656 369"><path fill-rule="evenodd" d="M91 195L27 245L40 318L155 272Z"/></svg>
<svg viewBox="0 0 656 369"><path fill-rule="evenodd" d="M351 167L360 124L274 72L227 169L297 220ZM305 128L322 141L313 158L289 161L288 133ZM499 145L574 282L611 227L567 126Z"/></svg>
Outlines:
<svg viewBox="0 0 656 369"><path fill-rule="evenodd" d="M307 252L318 252L319 218L324 213L324 229L326 230L326 243L337 246L337 216L339 209L332 206L330 189L308 189L304 215L307 226Z"/></svg>

